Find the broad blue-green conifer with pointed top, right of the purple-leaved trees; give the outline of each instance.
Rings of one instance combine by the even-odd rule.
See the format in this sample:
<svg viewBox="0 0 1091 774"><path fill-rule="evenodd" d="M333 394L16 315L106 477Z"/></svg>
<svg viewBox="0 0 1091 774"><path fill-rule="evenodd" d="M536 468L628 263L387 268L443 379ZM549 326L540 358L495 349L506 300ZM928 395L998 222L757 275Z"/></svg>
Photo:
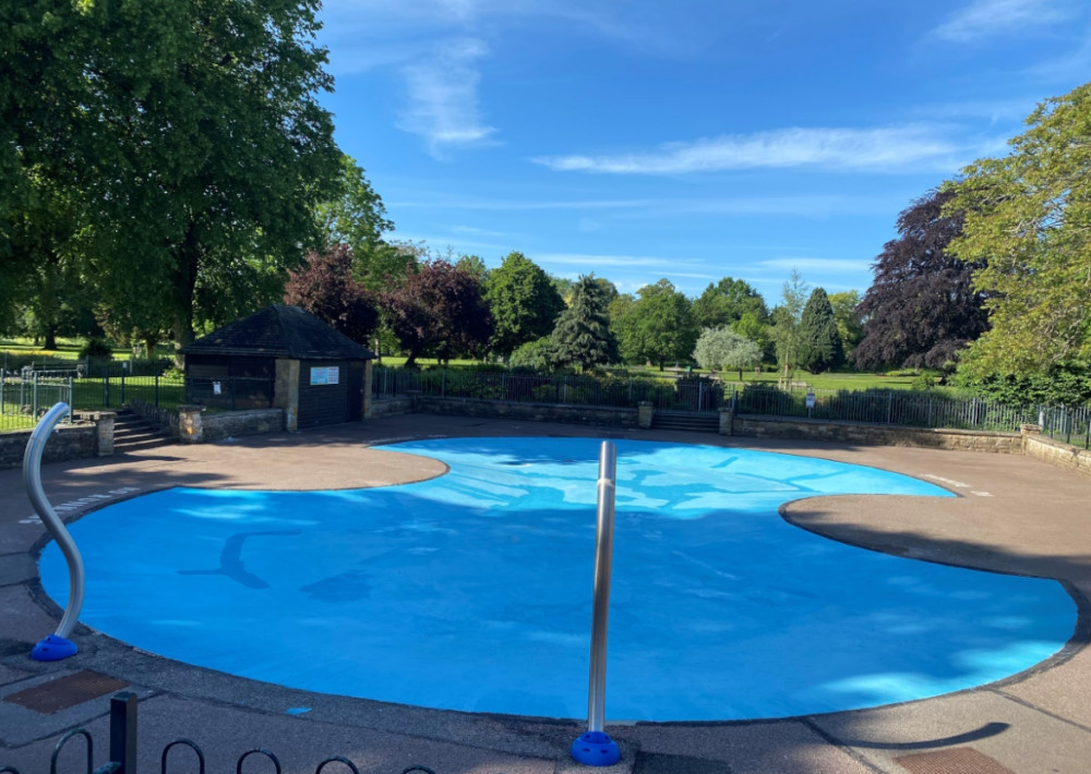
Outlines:
<svg viewBox="0 0 1091 774"><path fill-rule="evenodd" d="M561 366L587 371L618 362L618 339L610 330L606 292L595 275L585 275L572 288L572 301L556 318L550 336L552 359Z"/></svg>

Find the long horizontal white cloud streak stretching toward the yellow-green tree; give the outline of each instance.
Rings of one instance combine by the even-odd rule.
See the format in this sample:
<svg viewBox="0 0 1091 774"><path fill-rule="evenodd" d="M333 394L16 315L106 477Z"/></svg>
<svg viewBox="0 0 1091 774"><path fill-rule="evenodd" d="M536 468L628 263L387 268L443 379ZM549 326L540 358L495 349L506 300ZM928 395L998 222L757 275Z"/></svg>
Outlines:
<svg viewBox="0 0 1091 774"><path fill-rule="evenodd" d="M559 171L685 174L755 168L913 171L955 169L972 152L945 136L946 128L906 124L876 129L781 129L668 143L652 152L532 159Z"/></svg>

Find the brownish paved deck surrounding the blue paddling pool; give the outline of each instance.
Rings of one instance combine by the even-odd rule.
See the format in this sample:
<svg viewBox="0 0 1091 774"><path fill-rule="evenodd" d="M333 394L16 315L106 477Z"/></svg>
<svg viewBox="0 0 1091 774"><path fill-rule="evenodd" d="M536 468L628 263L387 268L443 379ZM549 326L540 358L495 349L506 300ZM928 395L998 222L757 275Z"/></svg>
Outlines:
<svg viewBox="0 0 1091 774"><path fill-rule="evenodd" d="M611 726L625 754L620 764L601 771L1091 770L1091 651L1084 648L1091 621L1086 602L1091 597L1091 480L1029 458L410 414L50 464L43 469L43 479L50 501L64 506L65 519L74 519L118 498L170 486L309 489L416 481L442 474L444 467L367 447L425 437L513 435L743 446L921 477L960 496L926 503L898 496L823 497L791 503L782 512L803 529L888 553L1056 578L1080 604L1080 625L1065 651L1007 680L906 704L779 721ZM320 760L333 754L347 757L363 772L393 774L412 764L427 765L435 774L582 769L567 758L567 747L580 730L575 723L290 690L160 658L84 628L74 636L81 645L75 657L33 662L31 644L56 628L59 610L43 598L37 582L35 551L45 529L28 518L32 513L21 471L0 472L0 767L14 765L23 774L47 771L57 738L75 726L92 731L95 764L105 761L109 693L52 713L7 700L86 669L115 678L115 685L140 697L141 771L157 771L163 746L178 737L201 745L211 772L231 770L238 757L254 747L274 750L285 772L313 772ZM259 640L262 636L255 632ZM609 706L608 696L608 717ZM290 714L299 710L305 712ZM67 749L62 762L69 767L60 771L83 771L79 747ZM183 758L179 754L177 771L195 771Z"/></svg>

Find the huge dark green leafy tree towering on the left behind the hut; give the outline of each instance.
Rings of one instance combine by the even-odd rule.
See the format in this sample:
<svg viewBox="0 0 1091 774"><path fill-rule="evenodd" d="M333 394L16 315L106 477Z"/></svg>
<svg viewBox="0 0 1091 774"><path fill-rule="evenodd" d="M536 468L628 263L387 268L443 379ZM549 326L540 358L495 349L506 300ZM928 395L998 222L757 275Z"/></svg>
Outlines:
<svg viewBox="0 0 1091 774"><path fill-rule="evenodd" d="M13 5L0 164L92 204L83 274L107 309L131 329L168 318L182 347L228 291L232 312L275 298L340 158L317 1Z"/></svg>

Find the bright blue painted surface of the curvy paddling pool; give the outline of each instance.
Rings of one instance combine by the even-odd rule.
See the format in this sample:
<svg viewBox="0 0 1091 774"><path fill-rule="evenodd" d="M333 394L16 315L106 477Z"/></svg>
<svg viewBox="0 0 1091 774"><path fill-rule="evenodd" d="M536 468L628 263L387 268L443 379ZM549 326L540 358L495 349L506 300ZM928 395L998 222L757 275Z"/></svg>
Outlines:
<svg viewBox="0 0 1091 774"><path fill-rule="evenodd" d="M313 691L584 717L599 442L458 438L416 484L173 488L72 525L81 620L141 649ZM802 497L932 484L828 460L618 442L607 717L887 704L1021 672L1071 637L1050 580L888 556L783 521ZM870 501L876 509L882 499ZM912 529L912 524L907 524ZM41 578L61 605L56 544Z"/></svg>

